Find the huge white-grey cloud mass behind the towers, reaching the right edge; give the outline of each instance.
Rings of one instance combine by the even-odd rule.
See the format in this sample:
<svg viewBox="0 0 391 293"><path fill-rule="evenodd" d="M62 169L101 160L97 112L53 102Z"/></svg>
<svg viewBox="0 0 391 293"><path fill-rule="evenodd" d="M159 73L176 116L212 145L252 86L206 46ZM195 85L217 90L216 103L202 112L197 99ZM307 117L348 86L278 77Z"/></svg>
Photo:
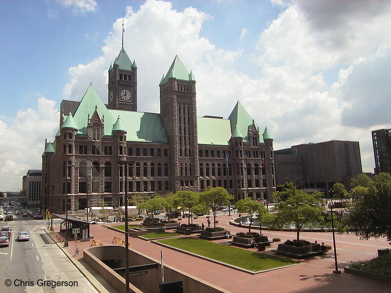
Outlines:
<svg viewBox="0 0 391 293"><path fill-rule="evenodd" d="M124 47L138 66L138 109L159 111L158 84L178 54L197 81L198 116L228 117L240 100L262 129L268 126L276 149L332 139L359 141L363 168L372 171L370 130L381 128L375 124L390 126L390 114L376 117L379 109L373 102L381 110L390 108L390 2L280 2L273 1L288 7L260 34L257 56L216 47L201 37L210 16L195 8L177 11L155 0L138 10L128 7ZM118 19L102 56L69 68L66 99L80 100L92 82L107 103L107 70L120 51L121 36ZM258 62L258 78L236 69L241 58ZM339 72L331 85L326 82L326 75L333 74L329 71Z"/></svg>

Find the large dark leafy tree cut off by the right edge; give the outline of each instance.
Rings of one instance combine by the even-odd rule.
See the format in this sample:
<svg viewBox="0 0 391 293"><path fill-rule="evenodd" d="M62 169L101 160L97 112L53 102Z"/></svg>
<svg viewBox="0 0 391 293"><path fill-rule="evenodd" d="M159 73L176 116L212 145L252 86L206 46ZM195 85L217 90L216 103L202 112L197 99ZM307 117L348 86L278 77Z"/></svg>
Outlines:
<svg viewBox="0 0 391 293"><path fill-rule="evenodd" d="M348 226L363 239L386 236L391 241L391 175L379 173L368 194L356 201L348 215ZM391 242L390 242L391 244Z"/></svg>

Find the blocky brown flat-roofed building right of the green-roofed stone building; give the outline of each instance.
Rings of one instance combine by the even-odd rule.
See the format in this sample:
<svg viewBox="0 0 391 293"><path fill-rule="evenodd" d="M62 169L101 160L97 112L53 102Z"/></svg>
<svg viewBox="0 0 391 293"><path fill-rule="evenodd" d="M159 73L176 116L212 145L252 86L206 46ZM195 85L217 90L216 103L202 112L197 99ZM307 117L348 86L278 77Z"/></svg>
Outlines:
<svg viewBox="0 0 391 293"><path fill-rule="evenodd" d="M276 183L315 188L328 195L334 183L350 188L352 177L362 173L358 142L328 141L274 151Z"/></svg>

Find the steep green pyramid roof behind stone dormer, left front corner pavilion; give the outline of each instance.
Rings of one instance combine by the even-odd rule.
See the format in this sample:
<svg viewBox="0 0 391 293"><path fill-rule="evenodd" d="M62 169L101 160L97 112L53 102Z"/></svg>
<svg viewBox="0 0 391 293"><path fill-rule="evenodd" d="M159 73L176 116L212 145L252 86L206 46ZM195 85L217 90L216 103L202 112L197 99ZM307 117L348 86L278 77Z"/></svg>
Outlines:
<svg viewBox="0 0 391 293"><path fill-rule="evenodd" d="M111 126L114 125L116 119L111 116L108 108L103 103L92 84L89 84L87 91L84 94L82 101L80 101L74 115L74 120L79 129L78 133L87 134L88 116L91 117L96 110L99 111L99 116L102 115L102 117L105 117L104 135L111 135Z"/></svg>

